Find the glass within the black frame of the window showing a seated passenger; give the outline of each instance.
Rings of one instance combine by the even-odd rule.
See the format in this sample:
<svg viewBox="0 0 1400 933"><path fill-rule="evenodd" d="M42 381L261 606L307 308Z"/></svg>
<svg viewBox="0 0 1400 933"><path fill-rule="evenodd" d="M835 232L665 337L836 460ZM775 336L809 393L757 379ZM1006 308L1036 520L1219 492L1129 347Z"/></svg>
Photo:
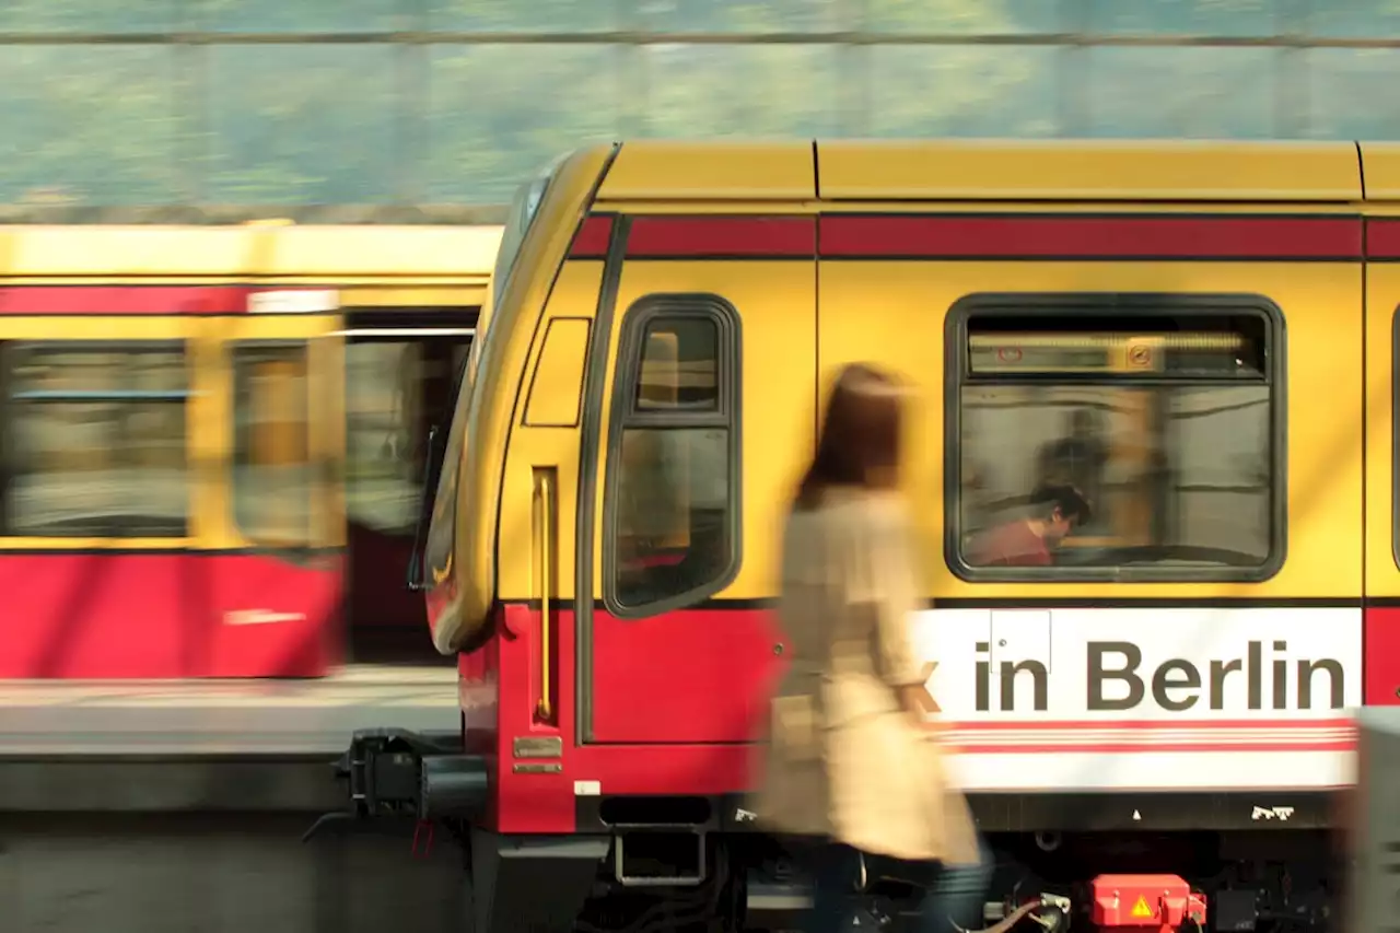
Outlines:
<svg viewBox="0 0 1400 933"><path fill-rule="evenodd" d="M979 333L976 322L959 395L966 565L1267 563L1274 450L1261 319L1191 332L1198 319L1187 317L1145 336L1046 333L1043 322L1039 333ZM1051 495L1065 489L1088 502L1088 521Z"/></svg>

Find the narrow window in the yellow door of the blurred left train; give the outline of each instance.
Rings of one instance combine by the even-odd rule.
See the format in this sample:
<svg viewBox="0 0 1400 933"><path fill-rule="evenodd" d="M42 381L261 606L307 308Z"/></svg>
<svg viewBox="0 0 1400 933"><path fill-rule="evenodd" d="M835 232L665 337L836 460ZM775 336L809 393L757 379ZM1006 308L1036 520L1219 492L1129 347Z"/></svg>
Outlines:
<svg viewBox="0 0 1400 933"><path fill-rule="evenodd" d="M234 347L234 518L259 546L311 542L307 346Z"/></svg>

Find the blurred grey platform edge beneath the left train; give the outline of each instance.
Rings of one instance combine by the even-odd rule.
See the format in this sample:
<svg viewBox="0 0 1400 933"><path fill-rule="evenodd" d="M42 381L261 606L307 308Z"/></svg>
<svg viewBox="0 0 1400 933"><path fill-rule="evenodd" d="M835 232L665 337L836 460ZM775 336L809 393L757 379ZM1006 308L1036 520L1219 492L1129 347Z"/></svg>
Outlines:
<svg viewBox="0 0 1400 933"><path fill-rule="evenodd" d="M314 813L358 728L451 731L456 668L315 681L0 681L0 811Z"/></svg>

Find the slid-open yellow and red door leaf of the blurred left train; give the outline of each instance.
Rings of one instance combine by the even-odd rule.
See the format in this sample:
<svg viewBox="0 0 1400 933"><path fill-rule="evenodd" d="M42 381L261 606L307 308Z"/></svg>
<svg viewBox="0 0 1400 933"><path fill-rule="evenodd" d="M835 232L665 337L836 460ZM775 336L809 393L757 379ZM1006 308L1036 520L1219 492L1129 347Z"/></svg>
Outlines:
<svg viewBox="0 0 1400 933"><path fill-rule="evenodd" d="M263 291L218 326L217 423L230 552L210 577L223 619L211 677L321 675L343 656L344 343L335 293Z"/></svg>

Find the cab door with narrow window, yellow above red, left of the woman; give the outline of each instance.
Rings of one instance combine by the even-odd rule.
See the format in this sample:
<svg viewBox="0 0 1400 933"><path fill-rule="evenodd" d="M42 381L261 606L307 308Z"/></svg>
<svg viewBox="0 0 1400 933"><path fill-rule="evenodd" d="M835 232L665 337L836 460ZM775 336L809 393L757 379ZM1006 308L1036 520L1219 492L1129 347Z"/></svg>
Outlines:
<svg viewBox="0 0 1400 933"><path fill-rule="evenodd" d="M743 741L781 650L755 601L813 450L815 224L636 217L626 237L578 598L582 738Z"/></svg>

